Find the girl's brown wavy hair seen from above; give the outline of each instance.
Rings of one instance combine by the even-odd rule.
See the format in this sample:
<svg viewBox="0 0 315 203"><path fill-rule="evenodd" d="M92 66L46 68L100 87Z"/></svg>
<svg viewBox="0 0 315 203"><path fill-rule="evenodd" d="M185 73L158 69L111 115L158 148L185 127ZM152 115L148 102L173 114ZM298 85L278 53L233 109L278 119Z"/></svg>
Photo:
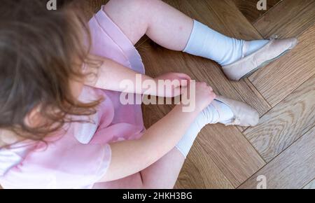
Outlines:
<svg viewBox="0 0 315 203"><path fill-rule="evenodd" d="M89 62L83 12L59 0L57 10L48 10L46 3L2 0L0 6L0 130L35 140L73 122L71 115L95 113L101 102L83 104L70 90L69 80L84 78L81 67ZM38 106L47 122L30 127L25 118Z"/></svg>

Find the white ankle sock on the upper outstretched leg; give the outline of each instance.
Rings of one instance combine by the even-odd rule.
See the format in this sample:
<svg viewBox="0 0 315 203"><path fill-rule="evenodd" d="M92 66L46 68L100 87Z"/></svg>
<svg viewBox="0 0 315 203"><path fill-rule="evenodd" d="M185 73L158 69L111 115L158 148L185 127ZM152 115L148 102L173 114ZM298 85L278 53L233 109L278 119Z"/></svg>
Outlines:
<svg viewBox="0 0 315 203"><path fill-rule="evenodd" d="M183 52L212 59L225 66L255 52L266 41L247 41L246 53L243 53L244 43L244 40L230 38L194 20L193 31Z"/></svg>

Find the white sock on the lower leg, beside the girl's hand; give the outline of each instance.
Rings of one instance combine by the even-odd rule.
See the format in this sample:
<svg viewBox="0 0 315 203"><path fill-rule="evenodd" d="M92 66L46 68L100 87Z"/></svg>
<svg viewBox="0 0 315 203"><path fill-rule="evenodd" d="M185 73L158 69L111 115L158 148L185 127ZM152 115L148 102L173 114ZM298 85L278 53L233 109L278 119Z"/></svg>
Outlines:
<svg viewBox="0 0 315 203"><path fill-rule="evenodd" d="M216 106L216 107L215 107ZM207 124L214 123L228 123L234 114L232 113L230 107L214 100L204 111L202 111L199 116L195 119L194 123L190 125L186 134L183 135L176 148L183 154L186 158L190 148L197 137L197 134L202 130Z"/></svg>

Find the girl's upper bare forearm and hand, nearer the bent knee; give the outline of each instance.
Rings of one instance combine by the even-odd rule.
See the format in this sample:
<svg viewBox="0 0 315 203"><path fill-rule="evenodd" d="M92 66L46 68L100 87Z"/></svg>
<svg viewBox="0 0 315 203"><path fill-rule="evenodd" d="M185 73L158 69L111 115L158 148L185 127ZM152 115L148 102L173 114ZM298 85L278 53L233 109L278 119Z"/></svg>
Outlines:
<svg viewBox="0 0 315 203"><path fill-rule="evenodd" d="M143 94L146 89L142 88L142 83L144 83L145 80L151 80L153 83L155 83L155 86L158 86L158 79L179 79L179 80L190 80L190 77L184 73L170 73L164 75L164 78L162 76L159 78L151 78L150 76L146 76L144 74L138 73L136 71L133 71L130 68L127 68L121 64L118 64L117 62L114 62L111 59L107 59L104 57L98 57L98 56L91 56L92 59L97 59L98 61L102 62L102 65L99 66L98 69L92 69L87 67L87 72L92 72L94 75L90 75L85 80L85 85L89 85L92 87L97 87L105 90L113 90L118 92L127 92L127 93L136 93L136 94ZM136 85L136 76L141 76L142 83L139 85ZM95 77L96 76L96 77ZM127 87L126 86L120 86L120 84L124 80L130 80L132 82L132 86ZM173 86L173 88L180 88L179 86ZM148 93L146 91L146 93ZM160 96L160 97L174 97L178 95L172 94L174 93L174 90L169 92L150 92L151 95L154 96Z"/></svg>

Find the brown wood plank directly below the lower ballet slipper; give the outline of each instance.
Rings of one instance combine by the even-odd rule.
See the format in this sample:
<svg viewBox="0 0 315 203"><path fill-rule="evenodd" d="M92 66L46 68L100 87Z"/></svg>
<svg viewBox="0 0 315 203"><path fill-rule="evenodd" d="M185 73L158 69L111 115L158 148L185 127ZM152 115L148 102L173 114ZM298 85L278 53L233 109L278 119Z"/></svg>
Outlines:
<svg viewBox="0 0 315 203"><path fill-rule="evenodd" d="M235 187L265 165L235 126L207 125L197 141Z"/></svg>

